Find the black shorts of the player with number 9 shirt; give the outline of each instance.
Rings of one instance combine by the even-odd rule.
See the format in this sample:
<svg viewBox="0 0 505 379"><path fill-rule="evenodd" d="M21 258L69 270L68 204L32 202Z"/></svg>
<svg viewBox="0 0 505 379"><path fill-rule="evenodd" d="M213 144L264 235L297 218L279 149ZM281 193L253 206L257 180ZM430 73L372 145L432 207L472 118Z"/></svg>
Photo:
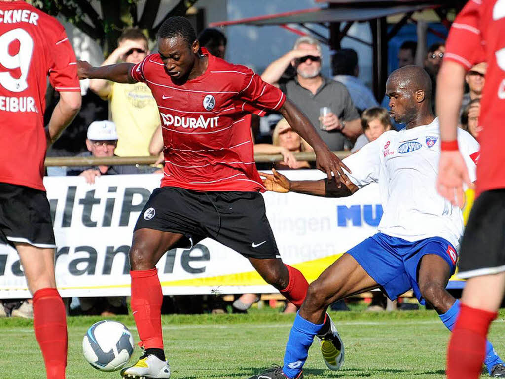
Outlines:
<svg viewBox="0 0 505 379"><path fill-rule="evenodd" d="M24 185L0 183L0 240L56 248L46 193Z"/></svg>

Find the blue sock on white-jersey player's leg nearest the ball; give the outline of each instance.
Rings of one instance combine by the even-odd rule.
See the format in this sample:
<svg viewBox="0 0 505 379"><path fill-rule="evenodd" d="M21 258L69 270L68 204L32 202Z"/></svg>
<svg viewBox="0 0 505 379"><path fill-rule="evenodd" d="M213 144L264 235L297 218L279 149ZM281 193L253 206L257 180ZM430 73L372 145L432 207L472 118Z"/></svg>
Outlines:
<svg viewBox="0 0 505 379"><path fill-rule="evenodd" d="M284 366L282 367L282 371L288 377L299 375L309 355L309 348L314 341L314 337L322 326L323 324L313 324L302 318L299 312L296 313L286 344Z"/></svg>

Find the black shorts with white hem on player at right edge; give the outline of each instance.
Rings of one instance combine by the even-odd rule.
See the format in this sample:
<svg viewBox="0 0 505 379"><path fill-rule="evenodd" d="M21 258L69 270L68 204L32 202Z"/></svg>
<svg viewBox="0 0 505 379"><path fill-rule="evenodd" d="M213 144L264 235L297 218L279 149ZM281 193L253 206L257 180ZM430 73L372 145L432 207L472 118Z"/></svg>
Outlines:
<svg viewBox="0 0 505 379"><path fill-rule="evenodd" d="M483 192L475 201L461 242L458 277L505 271L505 188Z"/></svg>

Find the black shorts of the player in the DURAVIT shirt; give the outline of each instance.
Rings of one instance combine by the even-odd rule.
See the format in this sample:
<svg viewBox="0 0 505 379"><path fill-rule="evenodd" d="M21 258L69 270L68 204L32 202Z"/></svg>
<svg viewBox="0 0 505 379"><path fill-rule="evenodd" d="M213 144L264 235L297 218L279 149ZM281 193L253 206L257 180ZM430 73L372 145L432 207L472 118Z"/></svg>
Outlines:
<svg viewBox="0 0 505 379"><path fill-rule="evenodd" d="M183 234L172 248L191 248L208 237L245 257L280 258L257 192L157 188L138 217L135 230L142 228Z"/></svg>

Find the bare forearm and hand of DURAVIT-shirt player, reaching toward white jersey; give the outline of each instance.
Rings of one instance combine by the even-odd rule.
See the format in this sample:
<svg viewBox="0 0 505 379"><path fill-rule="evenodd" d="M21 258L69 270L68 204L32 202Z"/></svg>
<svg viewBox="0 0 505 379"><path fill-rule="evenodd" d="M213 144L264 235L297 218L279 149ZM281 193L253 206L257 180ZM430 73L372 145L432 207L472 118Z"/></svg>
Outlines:
<svg viewBox="0 0 505 379"><path fill-rule="evenodd" d="M279 112L286 119L289 125L304 138L313 148L316 153L316 167L328 175L328 180L331 181L332 176L336 180L336 185L343 183L347 185L350 180L347 178L342 168L351 172L338 157L331 152L328 146L317 133L311 122L289 99L286 99Z"/></svg>

